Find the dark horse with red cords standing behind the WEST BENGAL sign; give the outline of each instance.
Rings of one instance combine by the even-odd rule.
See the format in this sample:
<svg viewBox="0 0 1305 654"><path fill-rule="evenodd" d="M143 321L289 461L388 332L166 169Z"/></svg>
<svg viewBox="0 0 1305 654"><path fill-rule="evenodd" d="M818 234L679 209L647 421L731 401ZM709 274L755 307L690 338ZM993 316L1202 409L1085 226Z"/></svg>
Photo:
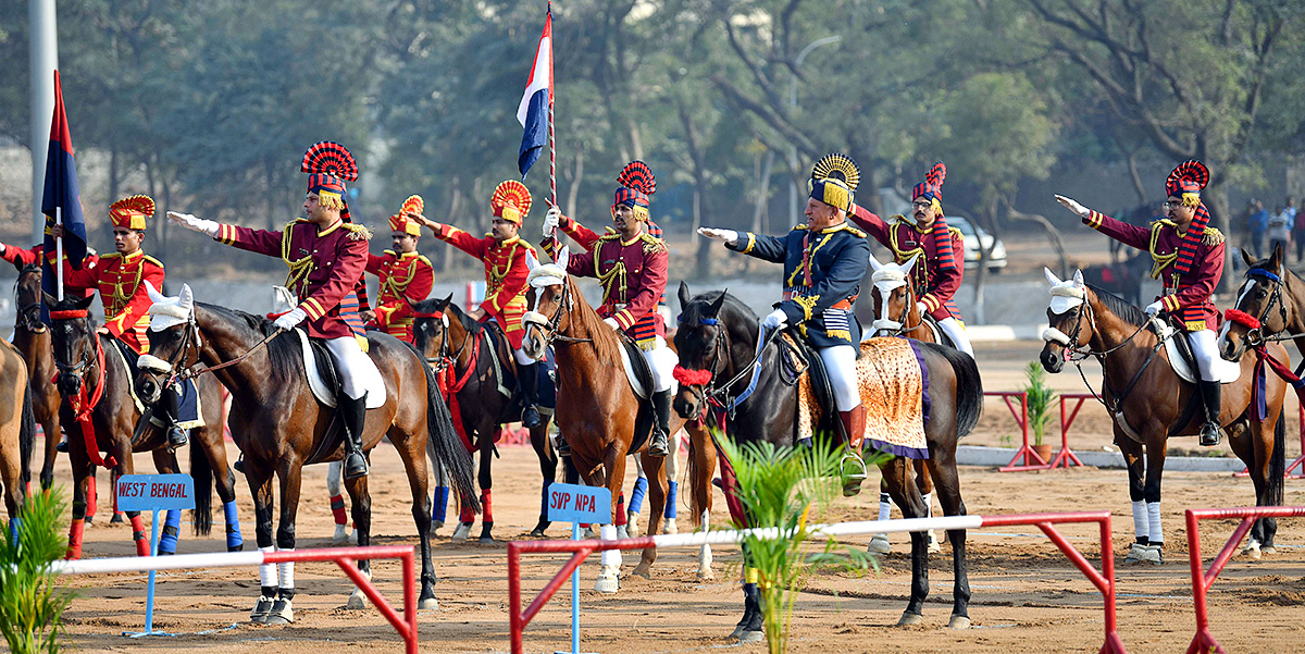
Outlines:
<svg viewBox="0 0 1305 654"><path fill-rule="evenodd" d="M132 373L127 362L117 352L117 345L108 334L97 333L87 308L94 296L82 299L65 298L56 300L44 295L50 307L51 345L55 367L59 369L56 386L63 396L60 422L68 428L68 458L73 469L73 517L69 527L69 559L81 557L82 527L86 516L86 500L91 465L104 466L121 476L134 473L133 452L149 452L159 473L180 471L176 454L168 446L163 429L153 424L137 424L144 415L138 397L132 393ZM200 406L204 427L191 429L191 467L202 470L194 473L198 478L211 471L224 471L219 482L219 492L224 501L235 500L231 486L231 473L227 467L227 450L222 441L222 398L221 388L213 381L198 384ZM89 423L78 422L78 409L89 416ZM90 428L90 437L86 428ZM100 454L104 452L106 454ZM205 535L213 523L209 493L196 493L194 529ZM234 513L232 513L234 516ZM138 512L128 512L132 522L132 538L136 539L136 552L149 556L149 538L145 522ZM176 529L180 514L168 512L164 534L159 539L159 551L176 551ZM231 523L228 523L228 529ZM239 547L232 547L239 550Z"/></svg>

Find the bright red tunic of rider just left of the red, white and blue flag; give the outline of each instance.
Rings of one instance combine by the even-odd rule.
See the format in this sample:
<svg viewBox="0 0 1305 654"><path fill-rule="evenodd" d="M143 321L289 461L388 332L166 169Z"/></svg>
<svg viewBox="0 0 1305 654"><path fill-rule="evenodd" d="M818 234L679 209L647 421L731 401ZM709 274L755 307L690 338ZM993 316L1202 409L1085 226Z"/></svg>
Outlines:
<svg viewBox="0 0 1305 654"><path fill-rule="evenodd" d="M526 337L521 317L526 315L527 255L535 248L519 236L499 243L493 236L478 239L449 225L441 225L435 236L484 262L485 299L480 302L480 308L485 316L499 321L512 347L521 349Z"/></svg>

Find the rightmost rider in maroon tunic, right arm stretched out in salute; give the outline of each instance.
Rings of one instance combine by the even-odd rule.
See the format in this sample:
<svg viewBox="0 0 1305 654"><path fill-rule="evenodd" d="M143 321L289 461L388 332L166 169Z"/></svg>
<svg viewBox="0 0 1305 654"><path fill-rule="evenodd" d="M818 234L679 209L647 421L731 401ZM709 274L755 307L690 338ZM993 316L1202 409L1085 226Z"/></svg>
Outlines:
<svg viewBox="0 0 1305 654"><path fill-rule="evenodd" d="M1191 343L1191 354L1201 368L1201 397L1205 399L1206 422L1201 426L1201 444L1219 444L1220 388L1214 372L1219 360L1215 328L1219 311L1214 294L1224 266L1224 235L1210 226L1210 211L1201 201L1201 189L1210 181L1210 168L1195 159L1173 168L1164 183L1168 200L1165 215L1150 227L1138 227L1094 211L1065 196L1056 200L1077 213L1083 225L1107 236L1151 253L1151 278L1160 279L1161 294L1146 305L1147 316L1160 312L1178 319Z"/></svg>

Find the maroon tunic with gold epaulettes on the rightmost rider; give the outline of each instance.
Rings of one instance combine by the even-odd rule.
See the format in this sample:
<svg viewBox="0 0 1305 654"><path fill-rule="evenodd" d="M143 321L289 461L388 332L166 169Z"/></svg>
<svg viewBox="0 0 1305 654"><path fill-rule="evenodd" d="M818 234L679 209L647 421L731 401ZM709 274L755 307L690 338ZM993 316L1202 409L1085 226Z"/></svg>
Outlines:
<svg viewBox="0 0 1305 654"><path fill-rule="evenodd" d="M1160 279L1163 295L1158 298L1164 311L1182 320L1188 332L1219 328L1219 309L1210 302L1219 278L1223 277L1224 236L1214 227L1197 244L1197 257L1186 274L1173 269L1178 258L1178 245L1184 235L1173 221L1160 219L1150 227L1138 227L1109 215L1092 211L1083 225L1120 241L1151 253L1151 278Z"/></svg>

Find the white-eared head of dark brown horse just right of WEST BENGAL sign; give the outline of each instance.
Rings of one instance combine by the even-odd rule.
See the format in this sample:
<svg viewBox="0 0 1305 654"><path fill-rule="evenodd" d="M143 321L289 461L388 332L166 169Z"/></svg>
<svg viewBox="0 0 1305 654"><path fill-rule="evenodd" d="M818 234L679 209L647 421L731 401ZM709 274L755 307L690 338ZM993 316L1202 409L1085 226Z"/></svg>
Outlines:
<svg viewBox="0 0 1305 654"><path fill-rule="evenodd" d="M176 298L168 298L154 285L145 282L150 296L150 352L137 360L140 372L136 375L136 388L141 401L149 405L158 402L167 377L200 358L200 332L194 322L194 294L191 285L181 285Z"/></svg>

